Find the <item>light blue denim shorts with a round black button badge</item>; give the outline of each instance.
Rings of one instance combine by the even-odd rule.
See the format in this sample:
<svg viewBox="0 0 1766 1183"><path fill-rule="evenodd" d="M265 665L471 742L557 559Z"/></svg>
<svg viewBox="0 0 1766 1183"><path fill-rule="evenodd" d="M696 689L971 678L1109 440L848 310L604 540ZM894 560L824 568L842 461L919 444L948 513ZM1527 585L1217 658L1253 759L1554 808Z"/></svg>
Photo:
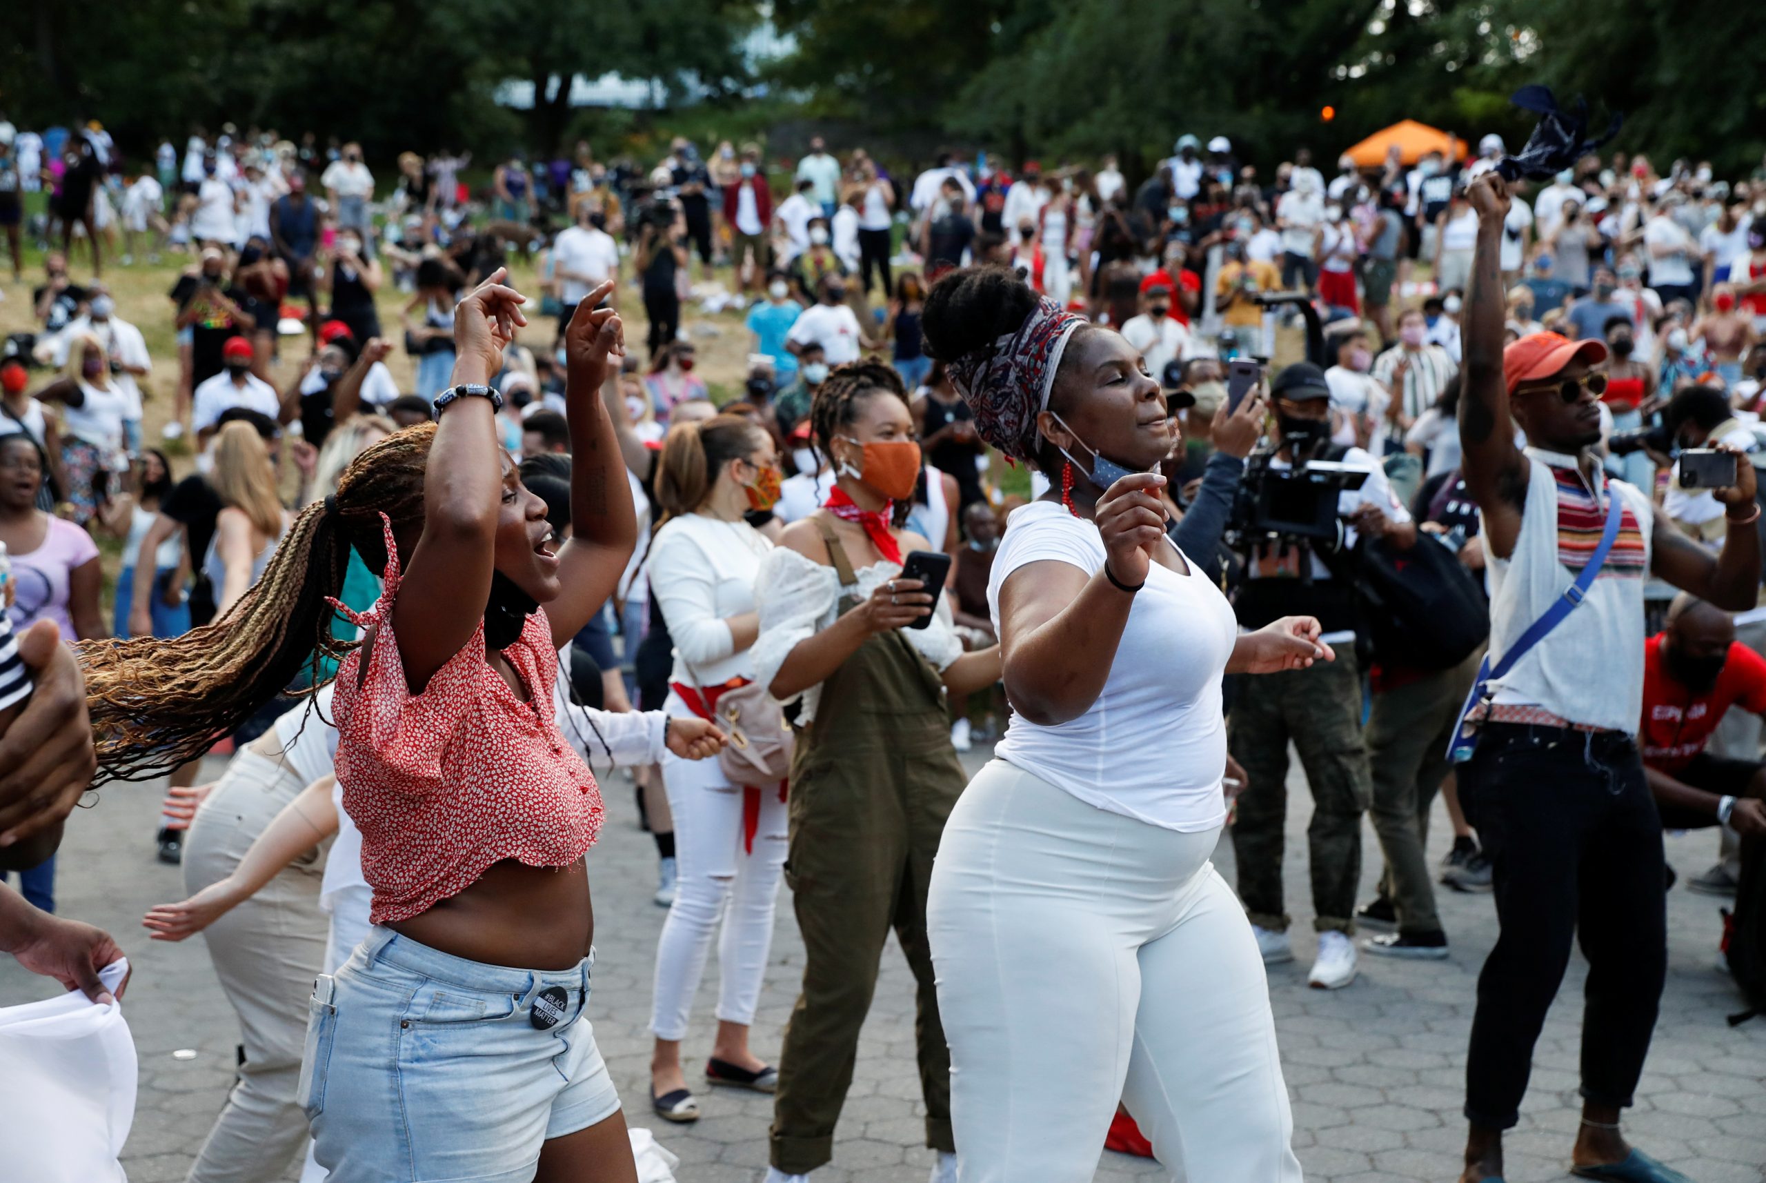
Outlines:
<svg viewBox="0 0 1766 1183"><path fill-rule="evenodd" d="M526 1183L547 1139L618 1112L583 1017L593 961L486 966L373 927L314 983L295 1093L332 1183Z"/></svg>

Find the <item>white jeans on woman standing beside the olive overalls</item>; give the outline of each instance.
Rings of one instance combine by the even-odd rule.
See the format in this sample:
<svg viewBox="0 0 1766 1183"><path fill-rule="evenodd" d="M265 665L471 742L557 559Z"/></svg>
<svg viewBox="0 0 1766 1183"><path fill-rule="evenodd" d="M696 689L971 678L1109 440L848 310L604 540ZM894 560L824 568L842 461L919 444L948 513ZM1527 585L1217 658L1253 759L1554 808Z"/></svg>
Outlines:
<svg viewBox="0 0 1766 1183"><path fill-rule="evenodd" d="M664 708L691 715L673 690ZM717 1017L754 1022L766 953L772 948L774 902L786 853L786 805L777 786L759 791L754 853L742 828L745 791L729 784L715 759L662 757L662 786L675 814L675 906L657 941L655 1005L650 1029L659 1040L687 1035L692 996L699 992L712 936L721 973Z"/></svg>

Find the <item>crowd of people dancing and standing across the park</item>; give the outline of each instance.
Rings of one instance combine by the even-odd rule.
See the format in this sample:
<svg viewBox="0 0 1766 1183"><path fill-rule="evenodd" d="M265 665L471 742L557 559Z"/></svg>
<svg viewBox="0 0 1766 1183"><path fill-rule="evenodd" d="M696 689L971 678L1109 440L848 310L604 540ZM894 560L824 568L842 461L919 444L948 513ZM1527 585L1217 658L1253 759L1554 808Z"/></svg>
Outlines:
<svg viewBox="0 0 1766 1183"><path fill-rule="evenodd" d="M1589 155L1529 194L1487 136L1330 180L1298 150L1264 182L1185 134L1136 187L1113 157L955 152L908 184L819 138L784 178L675 139L650 171L510 155L479 194L464 155L406 154L385 200L313 136L198 134L127 185L101 129L48 164L23 141L0 224L51 184L62 249L0 360L0 706L34 671L11 726L65 772L12 805L0 738L34 909L0 888L32 934L0 948L53 969L49 941L97 994L115 946L48 916L60 819L94 761L168 777L191 897L147 927L207 934L245 1035L192 1179L302 1151L313 1179L636 1179L585 1019L615 766L668 908L659 1118L701 1119L699 1079L768 1093L768 1183L812 1179L894 932L934 1183L1086 1179L1106 1137L1298 1179L1268 1001L1293 747L1312 987L1448 957L1439 883L1494 899L1462 1179L1501 1176L1579 934L1574 1160L1683 1181L1619 1116L1667 968L1664 826L1722 830L1687 878L1713 895L1766 835L1766 180ZM118 189L125 231L145 210L148 249L191 251L182 480L97 279ZM752 337L719 401L682 332L694 256ZM99 531L125 539L115 634ZM1385 872L1358 900L1363 818ZM781 883L805 964L772 1061Z"/></svg>

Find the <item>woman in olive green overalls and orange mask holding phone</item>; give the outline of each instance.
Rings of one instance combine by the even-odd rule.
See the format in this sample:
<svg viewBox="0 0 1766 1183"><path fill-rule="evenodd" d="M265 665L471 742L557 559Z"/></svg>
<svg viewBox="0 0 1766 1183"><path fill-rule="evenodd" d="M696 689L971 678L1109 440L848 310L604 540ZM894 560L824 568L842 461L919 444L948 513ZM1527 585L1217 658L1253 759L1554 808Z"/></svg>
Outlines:
<svg viewBox="0 0 1766 1183"><path fill-rule="evenodd" d="M901 528L920 445L901 378L876 362L835 369L811 408L834 463L823 507L791 523L756 579L758 678L796 731L789 853L804 932L804 992L791 1010L774 1098L768 1183L798 1183L828 1162L853 1081L858 1028L895 929L918 980L925 1141L932 1183L955 1183L950 1052L938 1022L925 890L945 818L968 775L950 747L947 692L1000 680L1000 646L964 653L940 597L901 579L902 558L934 549Z"/></svg>

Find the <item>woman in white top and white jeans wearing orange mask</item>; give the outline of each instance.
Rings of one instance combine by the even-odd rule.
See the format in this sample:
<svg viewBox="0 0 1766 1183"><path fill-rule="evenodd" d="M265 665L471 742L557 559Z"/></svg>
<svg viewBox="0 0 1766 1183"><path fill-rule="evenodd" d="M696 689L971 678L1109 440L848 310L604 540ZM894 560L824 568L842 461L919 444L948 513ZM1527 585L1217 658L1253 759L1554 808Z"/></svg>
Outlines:
<svg viewBox="0 0 1766 1183"><path fill-rule="evenodd" d="M648 567L652 595L675 639L662 708L669 715L713 719L726 692L754 680L754 577L772 542L743 514L772 509L779 480L772 436L747 418L715 415L668 433L655 477L664 517ZM715 761L673 756L662 761L662 784L675 818L678 879L657 941L650 1102L666 1121L698 1121L680 1042L719 922L717 1038L706 1081L770 1093L777 1077L749 1051L749 1026L784 869L784 784L733 784Z"/></svg>

